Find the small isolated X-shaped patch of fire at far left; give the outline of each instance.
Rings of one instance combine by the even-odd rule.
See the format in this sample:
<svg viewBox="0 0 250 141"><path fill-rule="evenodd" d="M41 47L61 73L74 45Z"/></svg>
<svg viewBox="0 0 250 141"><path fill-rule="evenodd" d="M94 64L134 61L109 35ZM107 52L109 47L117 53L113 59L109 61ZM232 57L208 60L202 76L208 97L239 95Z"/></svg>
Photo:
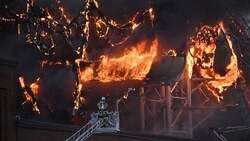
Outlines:
<svg viewBox="0 0 250 141"><path fill-rule="evenodd" d="M23 89L23 94L25 96L25 101L22 103L22 105L29 103L32 104L33 111L37 112L38 114L40 114L40 110L37 106L36 97L39 90L39 85L38 85L39 80L40 78L37 78L36 82L32 83L30 86L27 86L24 83L24 77L19 77L19 82L21 88Z"/></svg>

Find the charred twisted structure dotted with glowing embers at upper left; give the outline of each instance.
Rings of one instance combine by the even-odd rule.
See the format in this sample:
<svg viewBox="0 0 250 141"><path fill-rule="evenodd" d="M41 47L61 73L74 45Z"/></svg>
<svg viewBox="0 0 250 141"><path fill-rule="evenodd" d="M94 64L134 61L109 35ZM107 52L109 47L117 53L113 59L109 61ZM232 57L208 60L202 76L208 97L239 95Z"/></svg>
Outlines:
<svg viewBox="0 0 250 141"><path fill-rule="evenodd" d="M96 0L84 0L81 11L72 20L67 18L60 3L57 1L57 5L49 10L49 8L36 6L34 0L27 0L26 12L19 14L12 13L5 6L8 14L0 17L0 21L15 22L18 25L19 36L20 24L24 24L26 42L34 45L45 55L55 54L54 48L57 45L55 41L58 36L61 36L67 41L69 47L76 53L82 54L82 58L86 57L85 50L88 47L90 25L96 26L95 32L98 37L107 41L110 46L124 43L129 39L130 34L147 19L153 26L152 8L136 13L126 24L119 25L102 13ZM120 40L114 41L113 36L119 36ZM76 38L79 40L74 41Z"/></svg>

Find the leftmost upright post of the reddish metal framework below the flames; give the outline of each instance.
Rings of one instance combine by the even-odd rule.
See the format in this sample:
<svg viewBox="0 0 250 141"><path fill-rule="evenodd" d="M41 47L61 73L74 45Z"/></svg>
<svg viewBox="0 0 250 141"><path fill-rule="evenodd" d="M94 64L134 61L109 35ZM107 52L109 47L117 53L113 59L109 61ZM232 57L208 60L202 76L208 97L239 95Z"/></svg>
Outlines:
<svg viewBox="0 0 250 141"><path fill-rule="evenodd" d="M144 131L145 129L145 96L144 95L144 87L140 87L140 130Z"/></svg>

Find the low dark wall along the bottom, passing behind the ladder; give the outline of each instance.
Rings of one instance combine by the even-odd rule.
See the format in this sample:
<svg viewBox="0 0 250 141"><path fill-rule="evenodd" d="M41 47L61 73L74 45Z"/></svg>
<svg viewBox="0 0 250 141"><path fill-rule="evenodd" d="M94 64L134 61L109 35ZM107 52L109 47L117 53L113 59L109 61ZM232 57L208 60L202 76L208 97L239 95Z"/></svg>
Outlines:
<svg viewBox="0 0 250 141"><path fill-rule="evenodd" d="M20 119L17 122L17 141L63 141L74 134L80 126L55 124ZM198 139L142 134L136 132L98 133L87 141L199 141Z"/></svg>

